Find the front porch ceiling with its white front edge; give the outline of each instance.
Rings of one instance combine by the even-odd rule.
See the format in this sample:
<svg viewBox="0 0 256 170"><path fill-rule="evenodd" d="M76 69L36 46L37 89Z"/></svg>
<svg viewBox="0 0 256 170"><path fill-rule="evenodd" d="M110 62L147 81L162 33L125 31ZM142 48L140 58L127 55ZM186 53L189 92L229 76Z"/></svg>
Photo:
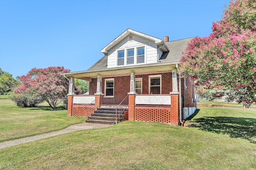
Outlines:
<svg viewBox="0 0 256 170"><path fill-rule="evenodd" d="M81 80L91 81L92 78L97 78L98 75L104 77L110 76L130 76L131 72L134 72L135 75L140 74L149 74L149 73L162 73L162 72L171 72L171 70L176 70L176 64L157 64L157 65L140 65L140 66L129 66L129 67L117 67L109 68L106 70L87 70L79 72L68 72L62 73L68 77L73 77Z"/></svg>

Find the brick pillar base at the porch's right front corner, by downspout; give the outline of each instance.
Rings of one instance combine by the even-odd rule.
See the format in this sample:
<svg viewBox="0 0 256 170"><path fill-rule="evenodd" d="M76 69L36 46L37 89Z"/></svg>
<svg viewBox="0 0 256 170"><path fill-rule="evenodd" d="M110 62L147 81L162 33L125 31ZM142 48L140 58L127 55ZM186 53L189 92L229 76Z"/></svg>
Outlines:
<svg viewBox="0 0 256 170"><path fill-rule="evenodd" d="M179 93L170 92L171 94L171 124L179 125Z"/></svg>

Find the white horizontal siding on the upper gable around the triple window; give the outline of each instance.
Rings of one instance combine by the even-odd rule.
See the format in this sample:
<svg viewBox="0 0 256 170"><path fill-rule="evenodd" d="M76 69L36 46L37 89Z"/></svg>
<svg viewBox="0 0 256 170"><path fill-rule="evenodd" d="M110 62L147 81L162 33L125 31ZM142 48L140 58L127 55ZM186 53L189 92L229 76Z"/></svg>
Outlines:
<svg viewBox="0 0 256 170"><path fill-rule="evenodd" d="M131 41L129 41L130 36L132 36ZM134 64L129 64L129 65L136 65L136 54L137 54L136 48L137 47L145 47L145 63L139 63L139 64L157 63L157 45L155 44L155 42L145 39L143 37L139 37L138 35L130 34L108 51L108 68L117 67L117 51L132 49L132 48L134 48L134 53L135 53ZM126 66L126 62L127 61L125 59L125 62L124 62L125 64L122 66Z"/></svg>

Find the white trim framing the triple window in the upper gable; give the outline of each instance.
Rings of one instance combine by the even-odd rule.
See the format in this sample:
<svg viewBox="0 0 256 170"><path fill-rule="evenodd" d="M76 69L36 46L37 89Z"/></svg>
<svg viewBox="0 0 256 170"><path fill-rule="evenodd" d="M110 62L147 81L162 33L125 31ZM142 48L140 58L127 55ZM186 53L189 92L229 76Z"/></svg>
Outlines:
<svg viewBox="0 0 256 170"><path fill-rule="evenodd" d="M137 49L144 47L144 63L137 63ZM127 64L127 50L129 49L134 49L134 64ZM116 49L116 67L123 67L123 66L133 66L133 65L141 65L141 64L146 64L147 63L147 45L138 45L138 46L133 46L133 47L127 47L127 48L120 48ZM118 51L123 51L124 50L124 65L118 65Z"/></svg>

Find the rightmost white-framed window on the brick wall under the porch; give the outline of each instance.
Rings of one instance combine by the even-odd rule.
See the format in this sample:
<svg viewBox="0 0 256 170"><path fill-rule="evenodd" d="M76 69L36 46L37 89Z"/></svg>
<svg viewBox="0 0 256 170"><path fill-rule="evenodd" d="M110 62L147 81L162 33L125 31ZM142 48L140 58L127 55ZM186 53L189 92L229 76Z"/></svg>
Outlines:
<svg viewBox="0 0 256 170"><path fill-rule="evenodd" d="M161 94L161 75L149 76L149 94Z"/></svg>

